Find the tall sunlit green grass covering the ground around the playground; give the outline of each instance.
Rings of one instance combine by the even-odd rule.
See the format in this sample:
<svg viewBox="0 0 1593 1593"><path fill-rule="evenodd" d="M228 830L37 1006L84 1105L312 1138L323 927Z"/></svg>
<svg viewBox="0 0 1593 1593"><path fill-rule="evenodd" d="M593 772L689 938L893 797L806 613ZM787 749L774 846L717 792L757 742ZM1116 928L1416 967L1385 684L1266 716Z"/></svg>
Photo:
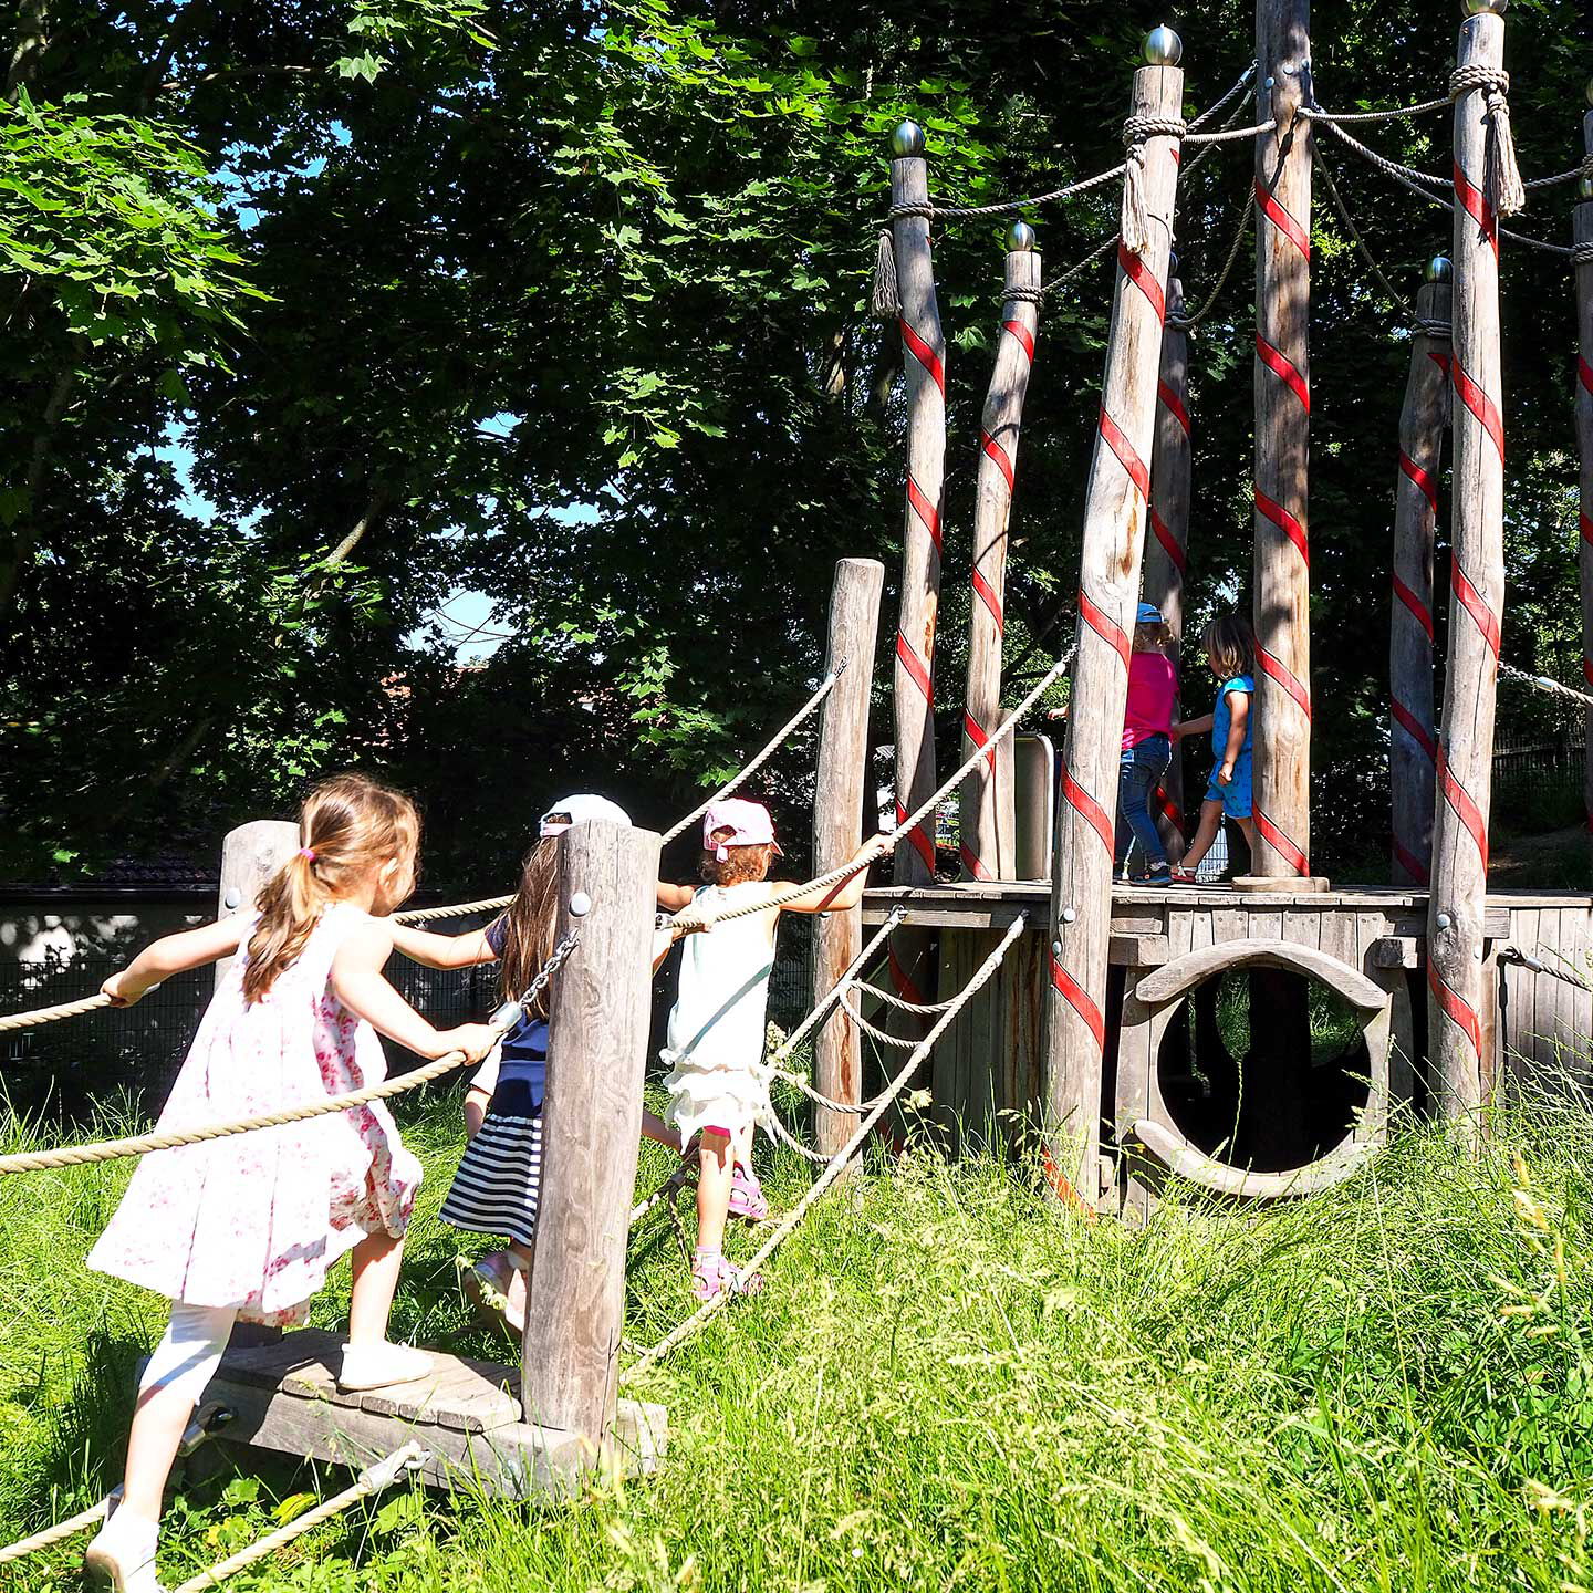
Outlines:
<svg viewBox="0 0 1593 1593"><path fill-rule="evenodd" d="M1024 1168L921 1150L820 1203L765 1294L648 1380L671 1416L656 1478L562 1509L395 1493L241 1585L1593 1587L1593 1123L1545 1101L1497 1129L1478 1157L1410 1129L1324 1198L1163 1207L1142 1230L1080 1222ZM435 1215L456 1106L405 1131L429 1182L398 1327L483 1352ZM808 1177L768 1171L777 1204ZM81 1266L124 1179L0 1180L0 1540L115 1477L161 1325L159 1301ZM629 1276L632 1337L688 1309L667 1225ZM339 1309L333 1292L317 1322ZM193 1489L167 1580L336 1485L268 1466ZM73 1566L68 1547L5 1587L75 1585Z"/></svg>

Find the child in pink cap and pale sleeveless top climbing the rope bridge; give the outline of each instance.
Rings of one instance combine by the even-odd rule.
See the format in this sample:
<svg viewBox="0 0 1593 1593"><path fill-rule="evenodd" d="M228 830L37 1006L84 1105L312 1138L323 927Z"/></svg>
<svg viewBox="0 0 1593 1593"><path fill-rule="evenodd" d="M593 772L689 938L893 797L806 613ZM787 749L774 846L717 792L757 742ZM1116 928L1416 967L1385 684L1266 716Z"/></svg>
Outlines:
<svg viewBox="0 0 1593 1593"><path fill-rule="evenodd" d="M698 1243L691 1289L699 1300L720 1290L750 1294L757 1273L731 1266L723 1255L730 1214L734 1147L750 1144L753 1123L769 1114L763 1047L774 933L785 913L840 913L862 900L868 865L886 841L865 841L851 859L855 873L825 890L811 890L766 913L749 913L688 935L680 954L680 991L669 1015L663 1059L669 1064L666 1118L680 1144L698 1139ZM781 852L769 811L755 801L718 801L703 816L701 875L693 913L714 919L731 908L769 902L789 886L769 881Z"/></svg>

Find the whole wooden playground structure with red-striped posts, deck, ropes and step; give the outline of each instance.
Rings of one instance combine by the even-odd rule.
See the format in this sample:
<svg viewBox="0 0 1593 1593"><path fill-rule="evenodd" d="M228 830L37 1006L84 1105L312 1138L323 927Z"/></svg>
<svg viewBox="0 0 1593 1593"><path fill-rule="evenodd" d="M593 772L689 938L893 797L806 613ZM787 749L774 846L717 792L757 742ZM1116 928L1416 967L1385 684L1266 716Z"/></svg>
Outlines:
<svg viewBox="0 0 1593 1593"><path fill-rule="evenodd" d="M1145 65L1134 73L1123 166L1061 191L1121 177L1075 652L1040 687L1072 661L1059 760L1043 739L1018 742L1012 734L1040 688L1002 714L1008 516L1047 292L1034 229L1018 221L1008 233L999 346L978 440L964 763L945 785L937 785L935 769L933 663L946 339L930 223L970 212L932 204L922 132L911 123L895 131L875 295L876 307L900 325L908 400L892 644L894 881L867 892L860 908L816 922L817 1005L792 1043L812 1035L814 1149L798 1149L825 1171L760 1257L840 1177L932 1048L933 1114L953 1144L1005 1142L1013 1121L1034 1123L1059 1195L1090 1212L1136 1215L1169 1179L1228 1201L1322 1190L1365 1163L1402 1106L1480 1129L1483 1107L1512 1067L1548 1066L1593 1029L1593 991L1580 977L1593 954L1593 897L1488 889L1504 613L1497 261L1501 234L1513 236L1501 217L1520 207L1523 188L1509 134L1504 10L1505 0L1467 0L1450 92L1442 102L1386 113L1453 105L1454 233L1451 253L1432 261L1416 301L1399 468L1389 483L1392 855L1381 886L1335 889L1311 867L1313 139L1317 127L1351 145L1354 139L1316 102L1308 0L1258 0L1255 126L1201 131L1233 99L1243 112L1252 73L1206 116L1185 123L1182 45L1169 29L1150 33ZM1580 180L1574 242L1539 247L1564 253L1575 269L1582 612L1583 632L1593 637L1593 112L1583 137L1590 156L1580 174L1545 180ZM1190 319L1172 274L1180 153L1241 142L1254 145L1258 228L1257 844L1251 875L1231 889L1133 889L1114 881L1114 840L1129 636L1142 589L1176 640L1184 626L1192 416ZM1411 186L1408 177L1400 180ZM972 213L1016 213L1026 204ZM1438 725L1432 572L1445 430L1453 438L1453 577ZM812 859L820 879L844 870L863 832L873 691L867 661L876 652L883 573L871 559L836 567L825 682L803 710L822 704ZM940 883L933 808L959 785L962 879ZM1176 827L1176 774L1160 798ZM1593 811L1593 765L1588 800ZM1051 812L1045 835L1037 816ZM601 1456L642 1472L658 1464L664 1411L621 1400L620 1386L717 1309L704 1306L621 1373L626 1239L648 1209L644 1203L632 1212L631 1200L660 844L652 832L612 825L583 825L562 843L559 933L573 954L551 984L551 1051L559 1061L548 1075L548 1150L521 1364L440 1357L438 1376L419 1392L342 1395L331 1375L330 1335L296 1332L229 1352L209 1395L231 1411L223 1437L354 1466L405 1456L433 1481L470 1477L515 1496L567 1489ZM234 832L221 911L239 911L296 846L295 825ZM868 946L865 929L875 930ZM876 948L889 957L889 988L871 992L876 1016L884 1012L883 1029L855 1005L870 997L863 965ZM1553 967L1556 959L1563 967ZM1236 983L1249 1013L1243 1055L1233 1055L1231 1024L1225 1034L1222 1016ZM1313 996L1313 988L1322 994ZM953 999L935 999L946 991ZM1322 1000L1337 1004L1341 1016L1338 1048L1313 1056L1313 1012ZM19 1015L0 1020L0 1027L72 1015ZM895 1077L873 1101L863 1101L865 1035L911 1053L900 1070L892 1064ZM433 1064L438 1070L444 1064ZM0 1158L0 1174L158 1147L134 1141L99 1149L107 1155ZM384 1486L392 1480L386 1470L376 1477ZM61 1536L64 1528L53 1531Z"/></svg>

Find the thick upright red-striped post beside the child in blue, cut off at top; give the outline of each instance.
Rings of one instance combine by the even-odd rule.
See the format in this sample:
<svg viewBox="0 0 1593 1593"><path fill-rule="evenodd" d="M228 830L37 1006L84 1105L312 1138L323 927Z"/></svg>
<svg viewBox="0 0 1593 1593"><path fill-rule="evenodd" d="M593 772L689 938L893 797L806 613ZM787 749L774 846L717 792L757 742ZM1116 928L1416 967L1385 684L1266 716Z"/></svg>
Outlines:
<svg viewBox="0 0 1593 1593"><path fill-rule="evenodd" d="M1311 863L1311 0L1255 8L1255 857L1257 875Z"/></svg>

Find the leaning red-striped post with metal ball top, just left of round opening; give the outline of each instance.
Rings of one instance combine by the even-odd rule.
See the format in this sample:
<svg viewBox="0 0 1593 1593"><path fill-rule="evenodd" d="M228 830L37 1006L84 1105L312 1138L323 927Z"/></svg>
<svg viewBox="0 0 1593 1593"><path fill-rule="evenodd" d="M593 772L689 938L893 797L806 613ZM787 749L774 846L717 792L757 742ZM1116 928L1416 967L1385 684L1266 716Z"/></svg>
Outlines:
<svg viewBox="0 0 1593 1593"><path fill-rule="evenodd" d="M1182 46L1169 29L1145 43L1131 118L1176 118L1184 105ZM1136 159L1141 150L1131 150ZM1166 314L1177 142L1142 143L1147 244L1117 253L1117 293L1090 478L1085 487L1078 658L1063 757L1051 863L1050 988L1045 1004L1043 1112L1053 1184L1094 1204L1101 1193L1101 1064L1112 930L1117 774L1128 701L1128 658L1150 495L1157 370ZM1128 196L1125 194L1125 202Z"/></svg>

